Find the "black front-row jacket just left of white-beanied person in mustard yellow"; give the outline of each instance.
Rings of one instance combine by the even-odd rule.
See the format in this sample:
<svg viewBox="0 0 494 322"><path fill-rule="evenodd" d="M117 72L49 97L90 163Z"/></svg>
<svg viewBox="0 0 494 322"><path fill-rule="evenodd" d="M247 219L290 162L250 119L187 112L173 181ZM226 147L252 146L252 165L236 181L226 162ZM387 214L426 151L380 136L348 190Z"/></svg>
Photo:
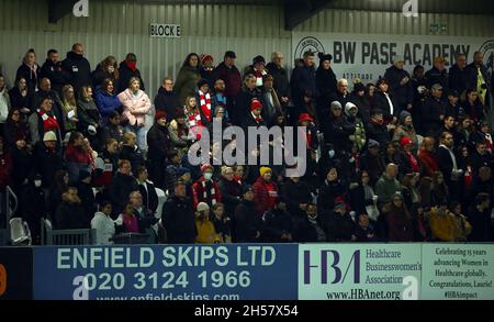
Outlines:
<svg viewBox="0 0 494 322"><path fill-rule="evenodd" d="M169 244L194 243L198 231L190 198L181 199L173 196L168 199L162 207L161 219Z"/></svg>

